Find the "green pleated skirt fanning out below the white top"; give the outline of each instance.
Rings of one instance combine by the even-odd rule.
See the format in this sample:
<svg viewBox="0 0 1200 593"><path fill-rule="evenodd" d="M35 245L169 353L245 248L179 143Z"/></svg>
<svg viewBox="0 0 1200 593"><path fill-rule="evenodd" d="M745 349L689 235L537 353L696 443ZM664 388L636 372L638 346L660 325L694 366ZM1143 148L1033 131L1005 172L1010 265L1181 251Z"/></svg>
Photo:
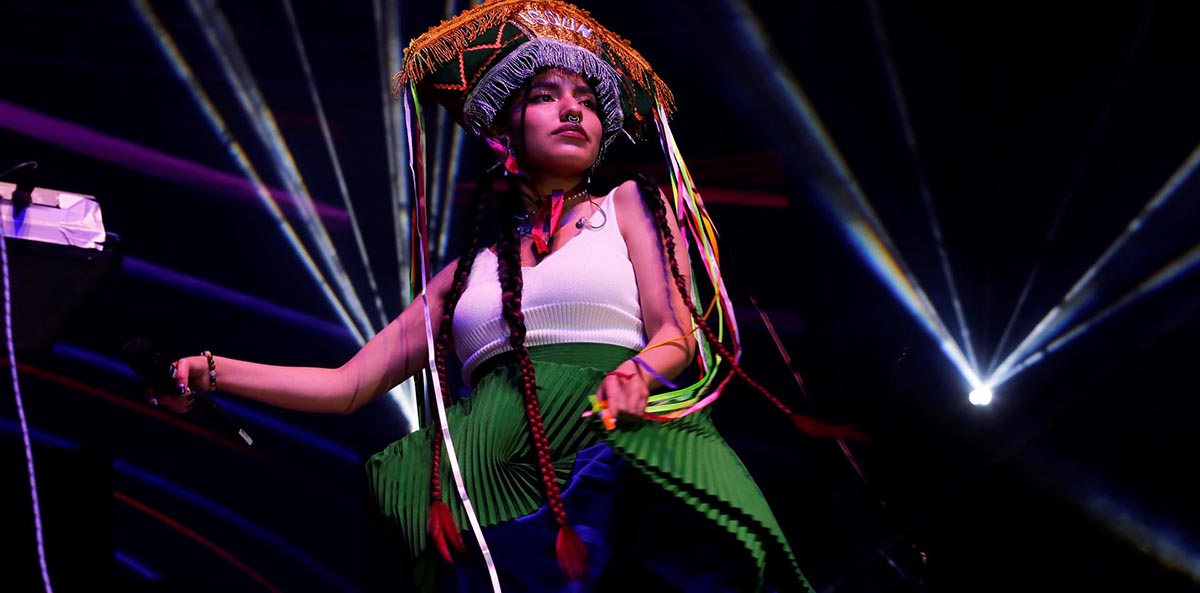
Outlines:
<svg viewBox="0 0 1200 593"><path fill-rule="evenodd" d="M760 591L768 576L781 589L812 591L766 498L718 433L707 409L666 423L640 421L608 431L598 418L583 417L589 409L588 396L595 394L608 371L636 352L608 345L571 343L533 347L529 354L551 459L568 498L575 489L571 480L572 469L578 469L577 454L607 445L664 498L685 505L695 521L715 526L714 532L736 541L730 547L738 550L740 557L728 562L744 562L749 567L750 579L744 591ZM472 396L446 409L466 491L488 540L490 527L544 511L546 503L524 401L514 387L516 372L511 354L488 360L474 373ZM439 562L431 551L426 527L432 503L431 443L430 432L413 432L372 455L366 467L382 519L403 540L412 559L425 564ZM443 499L463 528L463 539L472 540L445 455L443 449ZM596 504L594 498L588 501L586 504ZM570 511L568 520L572 521ZM589 538L584 540L593 557L604 557L590 550Z"/></svg>

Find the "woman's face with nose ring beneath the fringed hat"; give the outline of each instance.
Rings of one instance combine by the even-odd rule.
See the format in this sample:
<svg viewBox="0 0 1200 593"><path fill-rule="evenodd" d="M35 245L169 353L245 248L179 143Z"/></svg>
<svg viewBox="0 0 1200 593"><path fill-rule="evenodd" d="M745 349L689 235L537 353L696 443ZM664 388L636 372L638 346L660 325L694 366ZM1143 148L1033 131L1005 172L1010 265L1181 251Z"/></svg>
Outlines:
<svg viewBox="0 0 1200 593"><path fill-rule="evenodd" d="M523 104L522 98L517 95L509 110L510 130L520 130L524 121L523 133L515 134L524 142L522 168L535 175L565 176L592 167L600 154L604 125L595 92L583 77L546 70L530 82Z"/></svg>

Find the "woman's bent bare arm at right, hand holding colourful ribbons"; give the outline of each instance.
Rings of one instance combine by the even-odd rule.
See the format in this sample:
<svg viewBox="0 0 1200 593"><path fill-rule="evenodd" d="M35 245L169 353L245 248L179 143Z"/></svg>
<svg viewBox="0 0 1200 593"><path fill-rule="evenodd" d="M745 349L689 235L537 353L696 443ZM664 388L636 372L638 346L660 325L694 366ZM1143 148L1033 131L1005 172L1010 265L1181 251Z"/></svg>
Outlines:
<svg viewBox="0 0 1200 593"><path fill-rule="evenodd" d="M634 264L642 323L646 328L648 347L637 358L659 375L673 379L691 364L696 353L695 335L689 331L692 328L691 313L676 287L666 245L659 238L654 216L642 202L637 185L632 181L622 184L613 194L613 200L617 221ZM670 214L670 206L667 211L667 227L676 238L676 260L688 286L688 252L679 239L679 227ZM655 347L660 343L661 346ZM661 385L653 373L628 360L605 378L596 396L608 401L610 413L617 418L641 418L646 412L649 391Z"/></svg>

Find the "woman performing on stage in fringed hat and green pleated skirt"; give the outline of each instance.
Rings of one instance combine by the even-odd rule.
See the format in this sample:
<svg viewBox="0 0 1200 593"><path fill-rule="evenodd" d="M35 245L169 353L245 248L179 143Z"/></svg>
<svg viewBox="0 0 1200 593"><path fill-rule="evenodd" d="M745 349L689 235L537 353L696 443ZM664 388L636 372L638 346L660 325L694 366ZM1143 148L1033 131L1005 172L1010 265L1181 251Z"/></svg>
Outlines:
<svg viewBox="0 0 1200 593"><path fill-rule="evenodd" d="M191 390L220 389L350 413L422 371L431 347L449 393L454 349L472 395L440 411L448 430L416 431L367 463L419 588L810 591L701 400L714 391L712 351L737 364L697 309L676 212L647 179L588 187L610 142L666 113L666 86L586 12L526 0L485 2L414 40L404 83L503 166L491 174L505 190L479 184L464 254L338 369L205 353L174 364L185 395L158 401L184 412ZM482 245L488 224L494 245ZM677 389L698 349L702 379Z"/></svg>

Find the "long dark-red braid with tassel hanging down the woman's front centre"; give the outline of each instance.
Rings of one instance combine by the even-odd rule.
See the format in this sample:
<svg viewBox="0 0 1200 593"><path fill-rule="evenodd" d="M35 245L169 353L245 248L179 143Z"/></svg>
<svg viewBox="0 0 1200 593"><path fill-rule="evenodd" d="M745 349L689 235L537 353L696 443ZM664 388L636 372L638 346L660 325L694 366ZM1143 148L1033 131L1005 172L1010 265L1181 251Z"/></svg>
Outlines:
<svg viewBox="0 0 1200 593"><path fill-rule="evenodd" d="M506 236L499 244L499 280L503 290L502 311L508 322L510 334L509 343L517 355L520 365L520 378L517 379L521 395L524 397L526 417L529 420L529 433L533 437L534 450L538 455L538 468L541 472L542 487L546 492L547 504L554 514L558 523L558 537L554 543L554 553L558 557L558 565L563 575L570 581L577 581L587 573L588 549L575 533L575 529L566 522L566 508L563 504L563 493L558 487L558 475L551 460L550 441L546 438L546 429L542 424L541 406L538 402L538 379L534 373L533 360L529 359L529 349L524 346L526 324L524 313L521 311L521 290L523 278L521 276L521 259L517 252L520 239L516 236L516 228L509 228Z"/></svg>

